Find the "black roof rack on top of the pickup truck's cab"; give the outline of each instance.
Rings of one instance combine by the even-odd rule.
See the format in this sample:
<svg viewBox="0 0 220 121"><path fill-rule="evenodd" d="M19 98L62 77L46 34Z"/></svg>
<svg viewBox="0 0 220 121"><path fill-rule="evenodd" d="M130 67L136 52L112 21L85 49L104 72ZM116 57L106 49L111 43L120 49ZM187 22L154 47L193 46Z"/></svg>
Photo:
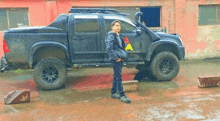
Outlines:
<svg viewBox="0 0 220 121"><path fill-rule="evenodd" d="M71 8L69 10L69 13L106 13L106 14L119 14L123 16L128 16L129 14L127 13L121 13L120 11L116 9L107 9L106 7L104 8Z"/></svg>

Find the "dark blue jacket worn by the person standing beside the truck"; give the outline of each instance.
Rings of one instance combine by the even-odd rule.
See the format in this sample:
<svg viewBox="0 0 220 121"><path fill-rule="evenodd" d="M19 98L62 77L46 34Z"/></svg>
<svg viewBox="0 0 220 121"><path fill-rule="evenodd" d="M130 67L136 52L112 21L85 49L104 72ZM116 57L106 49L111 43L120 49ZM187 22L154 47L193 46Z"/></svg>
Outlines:
<svg viewBox="0 0 220 121"><path fill-rule="evenodd" d="M117 34L110 31L105 37L105 43L106 43L106 51L109 55L109 60L117 60L118 58L126 59L127 58L127 52L125 51L125 43L123 41L123 38L121 38L122 47L119 45L119 41L117 40Z"/></svg>

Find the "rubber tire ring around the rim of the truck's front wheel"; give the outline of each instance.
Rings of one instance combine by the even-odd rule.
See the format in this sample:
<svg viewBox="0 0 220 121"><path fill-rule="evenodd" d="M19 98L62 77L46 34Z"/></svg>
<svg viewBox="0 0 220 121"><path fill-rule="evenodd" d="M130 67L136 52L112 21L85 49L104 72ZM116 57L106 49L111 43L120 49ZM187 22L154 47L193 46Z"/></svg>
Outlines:
<svg viewBox="0 0 220 121"><path fill-rule="evenodd" d="M159 64L163 59L169 58L174 63L174 69L170 74L162 74L159 70ZM177 76L180 70L179 60L172 52L160 52L152 60L150 70L157 80L170 81Z"/></svg>

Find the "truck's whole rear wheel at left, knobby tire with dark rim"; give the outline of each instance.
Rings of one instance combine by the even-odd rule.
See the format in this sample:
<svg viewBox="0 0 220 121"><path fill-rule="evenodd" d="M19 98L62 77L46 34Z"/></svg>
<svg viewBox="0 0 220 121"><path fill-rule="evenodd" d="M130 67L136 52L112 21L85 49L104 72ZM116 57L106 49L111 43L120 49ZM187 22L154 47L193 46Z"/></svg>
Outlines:
<svg viewBox="0 0 220 121"><path fill-rule="evenodd" d="M50 71L47 71L50 70ZM55 70L55 71L54 71ZM53 71L53 72L52 72ZM55 77L48 77L48 73L54 73ZM45 77L45 75L47 75ZM50 74L49 74L50 75ZM52 74L51 74L52 75ZM42 77L44 76L44 77ZM45 58L40 60L34 68L34 81L42 90L52 90L60 88L66 82L67 69L65 64L57 58ZM52 80L52 79L54 80ZM49 82L52 81L52 82Z"/></svg>

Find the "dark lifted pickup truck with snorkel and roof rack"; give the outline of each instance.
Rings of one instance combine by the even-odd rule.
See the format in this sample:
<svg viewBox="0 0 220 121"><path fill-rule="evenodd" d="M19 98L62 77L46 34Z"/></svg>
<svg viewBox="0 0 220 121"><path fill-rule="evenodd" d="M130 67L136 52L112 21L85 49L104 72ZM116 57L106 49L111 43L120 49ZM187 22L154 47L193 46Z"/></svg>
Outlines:
<svg viewBox="0 0 220 121"><path fill-rule="evenodd" d="M1 72L34 69L34 80L45 90L61 87L71 67L111 66L105 36L111 22L121 21L120 35L129 41L125 67L150 70L158 80L171 80L180 69L185 49L178 34L152 32L115 9L71 8L44 27L14 28L4 32Z"/></svg>

